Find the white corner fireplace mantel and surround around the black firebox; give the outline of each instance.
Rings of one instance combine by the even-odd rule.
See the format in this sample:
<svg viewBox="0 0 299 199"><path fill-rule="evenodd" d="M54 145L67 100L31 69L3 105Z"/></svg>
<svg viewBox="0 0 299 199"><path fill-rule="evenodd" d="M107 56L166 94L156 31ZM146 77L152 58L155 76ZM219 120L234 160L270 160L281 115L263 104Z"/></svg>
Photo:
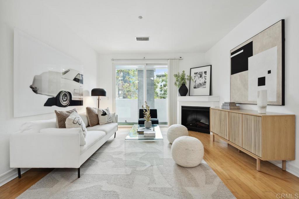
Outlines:
<svg viewBox="0 0 299 199"><path fill-rule="evenodd" d="M182 106L219 106L219 96L179 96L178 97L178 124L181 124Z"/></svg>

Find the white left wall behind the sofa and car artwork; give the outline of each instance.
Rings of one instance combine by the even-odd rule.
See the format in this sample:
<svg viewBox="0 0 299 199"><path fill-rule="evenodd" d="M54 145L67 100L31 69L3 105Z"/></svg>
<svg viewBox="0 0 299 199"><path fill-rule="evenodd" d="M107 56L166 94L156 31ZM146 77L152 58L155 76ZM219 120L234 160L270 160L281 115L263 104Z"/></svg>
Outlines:
<svg viewBox="0 0 299 199"><path fill-rule="evenodd" d="M54 118L53 114L13 118L13 28L30 34L42 42L79 60L84 65L84 95L97 87L98 54L80 39L67 25L54 16L39 0L0 1L0 178L8 172L9 137L22 123ZM28 69L30 70L30 68ZM96 98L84 97L84 105L96 106ZM84 111L85 108L79 110ZM38 150L38 149L37 149ZM2 175L3 176L3 175ZM1 179L0 179L1 180Z"/></svg>

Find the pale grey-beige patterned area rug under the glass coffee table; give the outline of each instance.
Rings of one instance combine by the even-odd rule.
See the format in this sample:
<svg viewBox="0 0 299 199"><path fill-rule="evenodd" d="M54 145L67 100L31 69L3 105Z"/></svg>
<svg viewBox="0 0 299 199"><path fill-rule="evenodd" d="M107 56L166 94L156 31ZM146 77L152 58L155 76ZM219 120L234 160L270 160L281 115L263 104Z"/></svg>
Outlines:
<svg viewBox="0 0 299 199"><path fill-rule="evenodd" d="M165 130L163 166L125 166L127 133L120 130L101 146L81 166L80 178L77 169L54 169L18 198L235 198L204 160L193 168L177 165Z"/></svg>

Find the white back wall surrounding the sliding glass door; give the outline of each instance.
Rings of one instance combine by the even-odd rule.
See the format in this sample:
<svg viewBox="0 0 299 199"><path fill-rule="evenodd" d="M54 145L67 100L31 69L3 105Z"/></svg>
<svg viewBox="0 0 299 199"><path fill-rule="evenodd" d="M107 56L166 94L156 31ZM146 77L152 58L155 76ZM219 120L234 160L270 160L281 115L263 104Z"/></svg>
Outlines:
<svg viewBox="0 0 299 199"><path fill-rule="evenodd" d="M100 72L98 74L98 84L100 88L107 90L107 97L102 97L100 106L102 108L112 107L112 77L113 62L112 58L179 58L179 71L185 70L186 74L190 74L190 68L207 65L205 62L205 53L155 53L155 54L100 54ZM144 62L145 60L138 60ZM161 60L157 60L161 61ZM136 61L137 62L137 61ZM189 88L189 84L187 85ZM187 94L189 95L189 93Z"/></svg>

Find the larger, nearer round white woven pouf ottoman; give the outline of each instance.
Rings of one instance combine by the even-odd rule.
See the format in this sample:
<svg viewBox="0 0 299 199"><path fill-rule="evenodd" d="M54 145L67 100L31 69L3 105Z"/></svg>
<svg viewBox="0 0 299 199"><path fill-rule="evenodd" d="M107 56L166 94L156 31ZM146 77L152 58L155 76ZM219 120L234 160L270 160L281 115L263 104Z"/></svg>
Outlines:
<svg viewBox="0 0 299 199"><path fill-rule="evenodd" d="M195 137L181 136L172 143L171 156L180 166L194 167L202 162L204 146Z"/></svg>

